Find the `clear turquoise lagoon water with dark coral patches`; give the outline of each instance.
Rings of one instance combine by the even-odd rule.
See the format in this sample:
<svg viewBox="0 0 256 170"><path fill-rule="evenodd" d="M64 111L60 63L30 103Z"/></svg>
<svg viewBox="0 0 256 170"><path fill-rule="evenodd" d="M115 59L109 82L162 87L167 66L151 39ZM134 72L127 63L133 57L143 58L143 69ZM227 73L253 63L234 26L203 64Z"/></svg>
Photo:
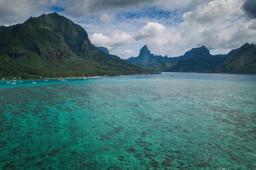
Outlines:
<svg viewBox="0 0 256 170"><path fill-rule="evenodd" d="M0 81L0 169L256 169L256 75L171 74Z"/></svg>

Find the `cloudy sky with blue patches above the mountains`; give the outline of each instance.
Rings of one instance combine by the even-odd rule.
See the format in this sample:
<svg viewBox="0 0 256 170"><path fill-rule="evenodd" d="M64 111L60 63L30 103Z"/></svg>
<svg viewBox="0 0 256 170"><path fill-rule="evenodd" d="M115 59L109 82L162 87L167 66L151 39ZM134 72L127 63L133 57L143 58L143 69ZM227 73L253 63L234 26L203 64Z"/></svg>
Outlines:
<svg viewBox="0 0 256 170"><path fill-rule="evenodd" d="M121 58L179 56L206 46L211 54L256 44L256 0L0 0L0 25L57 12L81 25L92 44Z"/></svg>

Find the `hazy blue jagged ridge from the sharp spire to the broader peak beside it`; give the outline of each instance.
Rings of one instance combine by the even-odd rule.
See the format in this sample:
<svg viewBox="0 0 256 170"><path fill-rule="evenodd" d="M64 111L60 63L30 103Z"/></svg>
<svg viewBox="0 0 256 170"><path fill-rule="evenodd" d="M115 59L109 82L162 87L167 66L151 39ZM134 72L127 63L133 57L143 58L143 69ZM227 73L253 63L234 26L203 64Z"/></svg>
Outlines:
<svg viewBox="0 0 256 170"><path fill-rule="evenodd" d="M200 55L210 55L210 52L204 46L199 48L193 48L187 51L184 55L178 57L162 57L161 55L151 54L148 50L147 46L144 45L140 49L140 54L138 57L130 57L126 59L126 61L136 64L147 70L160 70L166 71L170 66L172 66L177 61L181 61L184 59L189 59L192 57L200 56Z"/></svg>

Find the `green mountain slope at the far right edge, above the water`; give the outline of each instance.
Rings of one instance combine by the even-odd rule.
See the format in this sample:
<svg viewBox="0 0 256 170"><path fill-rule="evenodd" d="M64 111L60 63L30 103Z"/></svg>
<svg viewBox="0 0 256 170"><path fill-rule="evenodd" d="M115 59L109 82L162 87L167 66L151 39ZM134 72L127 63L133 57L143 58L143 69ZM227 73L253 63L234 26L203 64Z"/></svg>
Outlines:
<svg viewBox="0 0 256 170"><path fill-rule="evenodd" d="M256 45L251 44L232 54L214 72L256 74Z"/></svg>

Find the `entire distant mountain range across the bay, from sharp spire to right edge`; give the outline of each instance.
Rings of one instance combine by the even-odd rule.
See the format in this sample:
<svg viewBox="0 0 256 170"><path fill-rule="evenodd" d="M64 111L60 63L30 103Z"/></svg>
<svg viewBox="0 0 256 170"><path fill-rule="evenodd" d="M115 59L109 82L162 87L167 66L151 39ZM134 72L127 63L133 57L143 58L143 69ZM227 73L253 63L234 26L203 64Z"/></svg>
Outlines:
<svg viewBox="0 0 256 170"><path fill-rule="evenodd" d="M126 61L154 71L256 74L255 45L249 43L227 54L211 55L202 46L178 57L151 54L144 45L138 57L131 57Z"/></svg>

